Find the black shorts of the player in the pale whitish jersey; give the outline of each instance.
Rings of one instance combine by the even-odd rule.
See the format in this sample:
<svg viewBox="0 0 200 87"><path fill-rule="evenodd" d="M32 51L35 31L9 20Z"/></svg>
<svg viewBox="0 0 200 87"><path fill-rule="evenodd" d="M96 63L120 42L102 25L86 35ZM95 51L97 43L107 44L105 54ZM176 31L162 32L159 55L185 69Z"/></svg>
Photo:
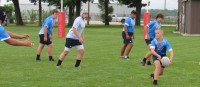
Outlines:
<svg viewBox="0 0 200 87"><path fill-rule="evenodd" d="M78 46L78 45L82 45L82 43L79 42L79 40L75 40L75 39L71 39L71 38L66 38L65 47L72 48L73 46Z"/></svg>

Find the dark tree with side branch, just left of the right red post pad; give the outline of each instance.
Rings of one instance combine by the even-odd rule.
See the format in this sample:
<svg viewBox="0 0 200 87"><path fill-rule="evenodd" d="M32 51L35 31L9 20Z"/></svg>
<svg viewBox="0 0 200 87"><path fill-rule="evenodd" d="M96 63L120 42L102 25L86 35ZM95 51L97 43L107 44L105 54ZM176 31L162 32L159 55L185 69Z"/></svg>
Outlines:
<svg viewBox="0 0 200 87"><path fill-rule="evenodd" d="M118 0L120 3L128 5L128 7L136 7L137 17L136 25L140 26L141 9L146 4L142 3L142 0Z"/></svg>

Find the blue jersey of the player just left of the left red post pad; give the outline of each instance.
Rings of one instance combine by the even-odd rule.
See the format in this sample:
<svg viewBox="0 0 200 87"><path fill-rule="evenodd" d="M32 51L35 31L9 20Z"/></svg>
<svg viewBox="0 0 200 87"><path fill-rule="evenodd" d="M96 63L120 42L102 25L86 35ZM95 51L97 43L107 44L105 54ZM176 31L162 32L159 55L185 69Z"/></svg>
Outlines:
<svg viewBox="0 0 200 87"><path fill-rule="evenodd" d="M51 34L55 23L56 23L56 19L53 19L52 16L47 17L42 24L42 28L40 29L39 34L44 34L45 26L47 26L47 33Z"/></svg>

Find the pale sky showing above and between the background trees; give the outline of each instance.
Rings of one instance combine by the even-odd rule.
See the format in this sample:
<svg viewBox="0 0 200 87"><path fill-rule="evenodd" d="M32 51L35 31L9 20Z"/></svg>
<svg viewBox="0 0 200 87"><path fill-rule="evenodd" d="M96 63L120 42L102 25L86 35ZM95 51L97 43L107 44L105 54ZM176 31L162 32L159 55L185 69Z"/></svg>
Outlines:
<svg viewBox="0 0 200 87"><path fill-rule="evenodd" d="M0 0L1 6L6 3L7 0ZM19 0L20 3L30 3L29 0ZM147 0L143 0L142 2L146 2ZM165 0L149 0L150 1L150 9L164 9L164 1ZM178 0L166 0L167 9L173 10L178 9Z"/></svg>

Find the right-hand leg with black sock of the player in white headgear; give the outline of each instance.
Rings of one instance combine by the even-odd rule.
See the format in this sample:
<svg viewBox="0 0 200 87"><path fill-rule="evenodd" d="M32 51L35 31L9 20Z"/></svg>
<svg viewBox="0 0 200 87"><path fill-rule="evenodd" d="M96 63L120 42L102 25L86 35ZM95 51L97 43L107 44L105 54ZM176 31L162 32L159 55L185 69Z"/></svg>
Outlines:
<svg viewBox="0 0 200 87"><path fill-rule="evenodd" d="M74 65L74 67L79 67L81 60L84 56L84 47L83 45L77 45L76 48L78 50L78 54L77 54L76 64Z"/></svg>

